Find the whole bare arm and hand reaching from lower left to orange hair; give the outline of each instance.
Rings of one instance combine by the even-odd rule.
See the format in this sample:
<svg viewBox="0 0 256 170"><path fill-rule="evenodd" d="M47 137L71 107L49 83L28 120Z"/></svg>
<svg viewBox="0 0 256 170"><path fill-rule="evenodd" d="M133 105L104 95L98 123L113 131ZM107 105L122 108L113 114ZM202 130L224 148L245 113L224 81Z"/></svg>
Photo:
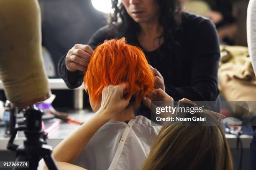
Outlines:
<svg viewBox="0 0 256 170"><path fill-rule="evenodd" d="M110 85L102 90L100 109L90 120L87 120L78 130L61 141L54 149L53 156L59 166L74 164L97 130L125 109L130 98L127 100L123 98L124 90L125 84Z"/></svg>

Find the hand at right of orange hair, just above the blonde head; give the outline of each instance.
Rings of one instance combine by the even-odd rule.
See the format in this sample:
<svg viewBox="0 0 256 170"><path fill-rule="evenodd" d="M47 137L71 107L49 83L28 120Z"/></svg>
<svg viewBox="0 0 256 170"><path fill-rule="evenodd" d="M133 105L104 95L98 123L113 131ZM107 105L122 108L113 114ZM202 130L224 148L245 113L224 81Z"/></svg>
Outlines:
<svg viewBox="0 0 256 170"><path fill-rule="evenodd" d="M143 97L143 102L148 108L151 109L151 101L169 101L173 102L173 98L162 90L161 88L149 92L146 97Z"/></svg>

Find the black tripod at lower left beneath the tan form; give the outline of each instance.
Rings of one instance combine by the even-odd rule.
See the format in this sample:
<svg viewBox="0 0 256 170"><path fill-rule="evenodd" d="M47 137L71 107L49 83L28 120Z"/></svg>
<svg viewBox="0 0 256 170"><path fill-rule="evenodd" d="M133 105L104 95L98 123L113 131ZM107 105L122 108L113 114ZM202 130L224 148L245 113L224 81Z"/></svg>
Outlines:
<svg viewBox="0 0 256 170"><path fill-rule="evenodd" d="M36 170L41 158L44 158L49 170L58 170L54 158L51 156L52 148L51 146L46 145L46 141L42 138L42 114L43 112L34 106L26 110L24 114L26 119L25 125L15 128L14 133L8 142L7 148L16 152L15 161L28 161L29 170ZM17 132L23 130L26 136L26 140L23 145L18 146L13 144ZM28 168L24 168L24 170L25 169L28 170Z"/></svg>

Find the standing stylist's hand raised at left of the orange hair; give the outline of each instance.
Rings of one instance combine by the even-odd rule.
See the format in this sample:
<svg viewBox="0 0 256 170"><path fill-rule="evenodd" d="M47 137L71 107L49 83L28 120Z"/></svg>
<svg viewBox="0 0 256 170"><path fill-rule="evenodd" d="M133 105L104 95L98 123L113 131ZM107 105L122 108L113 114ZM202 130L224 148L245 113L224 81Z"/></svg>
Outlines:
<svg viewBox="0 0 256 170"><path fill-rule="evenodd" d="M67 53L67 70L71 72L76 70L85 71L92 57L92 53L93 50L89 45L76 44Z"/></svg>

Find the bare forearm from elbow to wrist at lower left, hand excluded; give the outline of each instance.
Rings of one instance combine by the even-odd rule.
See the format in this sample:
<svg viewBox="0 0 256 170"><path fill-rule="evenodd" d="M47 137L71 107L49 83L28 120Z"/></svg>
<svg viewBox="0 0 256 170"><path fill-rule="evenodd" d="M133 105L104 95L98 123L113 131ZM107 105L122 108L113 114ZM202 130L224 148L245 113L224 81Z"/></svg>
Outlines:
<svg viewBox="0 0 256 170"><path fill-rule="evenodd" d="M92 136L108 120L104 120L103 111L98 111L95 115L87 120L79 129L62 140L53 150L54 159L57 162L74 164L82 153Z"/></svg>

